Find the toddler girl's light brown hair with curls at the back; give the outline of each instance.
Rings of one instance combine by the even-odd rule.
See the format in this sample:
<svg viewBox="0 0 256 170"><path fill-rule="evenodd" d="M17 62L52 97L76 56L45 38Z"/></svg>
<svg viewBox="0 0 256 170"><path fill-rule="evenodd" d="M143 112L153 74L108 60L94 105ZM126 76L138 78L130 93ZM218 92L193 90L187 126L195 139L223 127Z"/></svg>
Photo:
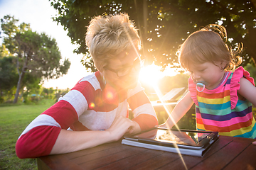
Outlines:
<svg viewBox="0 0 256 170"><path fill-rule="evenodd" d="M190 63L226 62L224 69L235 69L242 63L242 58L238 56L238 53L242 51L242 46L234 52L223 39L227 40L225 28L215 24L208 25L189 35L176 53L181 67L188 70Z"/></svg>

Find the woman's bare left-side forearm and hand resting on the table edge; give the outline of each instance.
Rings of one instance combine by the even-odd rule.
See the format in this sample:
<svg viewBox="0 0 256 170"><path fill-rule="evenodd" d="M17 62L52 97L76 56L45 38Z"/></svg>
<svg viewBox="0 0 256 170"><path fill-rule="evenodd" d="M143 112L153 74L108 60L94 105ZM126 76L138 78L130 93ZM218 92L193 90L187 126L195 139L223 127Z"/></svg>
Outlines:
<svg viewBox="0 0 256 170"><path fill-rule="evenodd" d="M115 118L111 127L107 130L60 130L60 134L50 154L75 152L107 142L114 142L119 140L126 132L137 132L138 130L140 129L136 122L123 116Z"/></svg>

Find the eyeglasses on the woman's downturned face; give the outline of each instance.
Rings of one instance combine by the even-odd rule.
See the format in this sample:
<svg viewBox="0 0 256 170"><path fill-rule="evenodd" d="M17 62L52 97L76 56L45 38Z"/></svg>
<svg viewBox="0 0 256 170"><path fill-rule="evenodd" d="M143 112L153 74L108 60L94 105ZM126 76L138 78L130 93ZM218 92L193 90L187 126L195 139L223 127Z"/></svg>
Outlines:
<svg viewBox="0 0 256 170"><path fill-rule="evenodd" d="M110 67L105 67L105 69L108 69L110 70L111 72L114 72L117 74L117 77L124 77L124 76L127 76L131 71L132 69L136 69L136 70L139 70L142 68L143 64L144 64L144 61L145 60L141 60L140 57L137 57L132 66L129 66L129 67L124 67L122 69L111 69Z"/></svg>

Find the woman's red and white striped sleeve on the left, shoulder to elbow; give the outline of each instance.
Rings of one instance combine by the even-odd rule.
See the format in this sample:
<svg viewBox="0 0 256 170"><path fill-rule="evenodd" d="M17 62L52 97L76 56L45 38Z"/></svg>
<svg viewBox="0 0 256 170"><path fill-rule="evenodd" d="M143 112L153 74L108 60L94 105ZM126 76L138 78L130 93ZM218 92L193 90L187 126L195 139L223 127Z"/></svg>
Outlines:
<svg viewBox="0 0 256 170"><path fill-rule="evenodd" d="M91 78L93 79L89 77L89 80ZM68 129L78 121L79 116L87 110L87 102L94 93L95 86L82 79L68 94L38 115L22 132L16 142L17 156L35 158L50 154L60 130Z"/></svg>

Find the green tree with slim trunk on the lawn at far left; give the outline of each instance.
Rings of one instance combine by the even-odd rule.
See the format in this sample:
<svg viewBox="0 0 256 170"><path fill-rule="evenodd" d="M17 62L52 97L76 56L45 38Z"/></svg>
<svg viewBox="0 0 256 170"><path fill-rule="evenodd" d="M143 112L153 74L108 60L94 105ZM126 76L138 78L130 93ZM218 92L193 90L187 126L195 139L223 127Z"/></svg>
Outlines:
<svg viewBox="0 0 256 170"><path fill-rule="evenodd" d="M29 24L21 23L14 16L1 19L1 29L6 35L3 44L10 54L16 57L18 82L14 103L18 101L19 91L25 74L40 79L53 79L67 74L70 62L65 59L60 64L60 51L54 38L46 33L33 32Z"/></svg>

